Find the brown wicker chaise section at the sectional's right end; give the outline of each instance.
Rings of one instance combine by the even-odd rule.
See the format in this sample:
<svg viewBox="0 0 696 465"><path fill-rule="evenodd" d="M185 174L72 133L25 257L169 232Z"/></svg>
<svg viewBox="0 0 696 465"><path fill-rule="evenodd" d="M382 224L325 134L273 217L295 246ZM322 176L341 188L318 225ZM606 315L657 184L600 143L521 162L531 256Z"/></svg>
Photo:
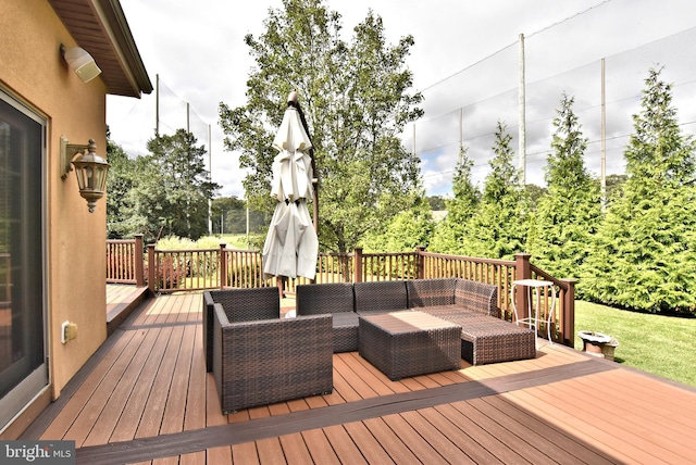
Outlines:
<svg viewBox="0 0 696 465"><path fill-rule="evenodd" d="M461 325L461 357L472 365L534 359L536 338L525 326L487 315L449 316Z"/></svg>

